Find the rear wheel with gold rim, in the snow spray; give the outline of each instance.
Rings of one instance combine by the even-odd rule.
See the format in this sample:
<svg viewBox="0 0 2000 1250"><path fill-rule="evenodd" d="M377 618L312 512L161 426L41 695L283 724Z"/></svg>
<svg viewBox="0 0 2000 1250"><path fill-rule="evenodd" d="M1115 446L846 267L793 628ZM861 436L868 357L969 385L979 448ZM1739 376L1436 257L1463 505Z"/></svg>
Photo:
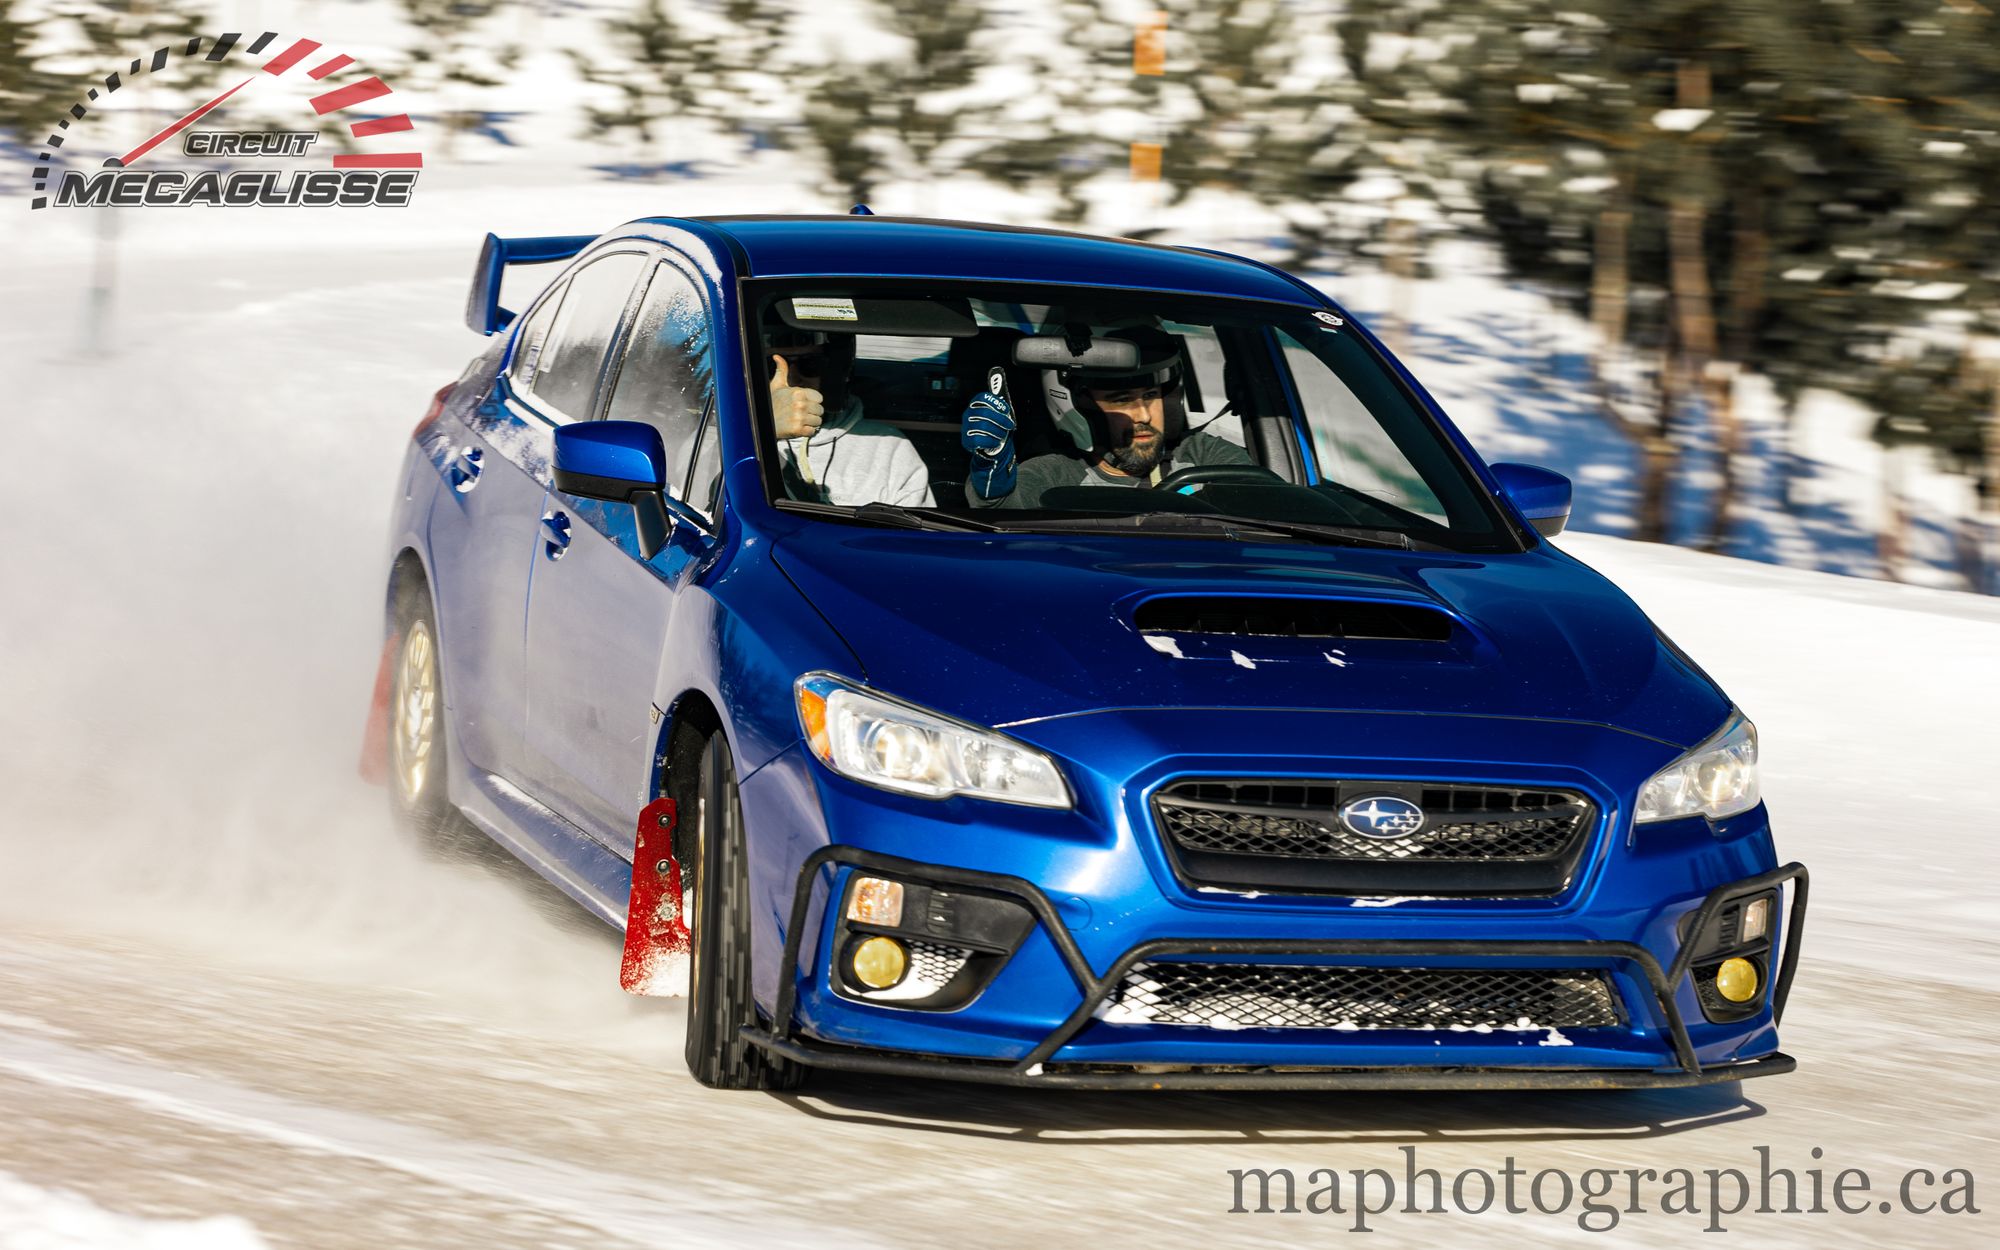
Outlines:
<svg viewBox="0 0 2000 1250"><path fill-rule="evenodd" d="M446 794L444 668L424 578L406 576L396 584L394 630L384 742L390 812L426 852L456 858L474 842L474 830Z"/></svg>

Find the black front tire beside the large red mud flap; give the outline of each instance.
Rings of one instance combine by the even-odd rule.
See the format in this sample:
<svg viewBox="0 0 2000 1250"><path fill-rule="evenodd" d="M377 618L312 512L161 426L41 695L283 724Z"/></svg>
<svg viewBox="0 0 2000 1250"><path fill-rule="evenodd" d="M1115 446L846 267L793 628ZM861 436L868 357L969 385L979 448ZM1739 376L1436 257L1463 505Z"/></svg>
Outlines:
<svg viewBox="0 0 2000 1250"><path fill-rule="evenodd" d="M676 774L688 792L676 796L684 814L676 856L694 866L688 1072L714 1090L796 1090L808 1068L740 1036L762 1020L750 996L750 866L728 742L712 734L700 744L700 766Z"/></svg>

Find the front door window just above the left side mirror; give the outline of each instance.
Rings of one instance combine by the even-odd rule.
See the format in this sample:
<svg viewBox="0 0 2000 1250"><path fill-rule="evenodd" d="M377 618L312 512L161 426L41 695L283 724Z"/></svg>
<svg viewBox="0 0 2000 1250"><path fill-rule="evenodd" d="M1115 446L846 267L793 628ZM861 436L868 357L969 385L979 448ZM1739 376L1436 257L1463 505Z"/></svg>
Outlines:
<svg viewBox="0 0 2000 1250"><path fill-rule="evenodd" d="M666 444L666 480L680 498L694 456L694 434L714 398L714 352L708 308L694 280L660 264L646 286L624 364L612 384L610 420L646 422Z"/></svg>

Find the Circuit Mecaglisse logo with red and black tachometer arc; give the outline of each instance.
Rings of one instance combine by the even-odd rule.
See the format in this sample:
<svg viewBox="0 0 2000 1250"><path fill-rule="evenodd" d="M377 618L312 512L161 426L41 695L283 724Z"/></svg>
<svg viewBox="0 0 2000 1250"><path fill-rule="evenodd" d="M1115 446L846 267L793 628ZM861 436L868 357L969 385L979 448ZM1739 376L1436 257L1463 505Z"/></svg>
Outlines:
<svg viewBox="0 0 2000 1250"><path fill-rule="evenodd" d="M412 146L416 124L410 114L380 112L378 100L392 94L386 82L372 74L364 78L352 56L328 52L318 40L284 44L270 30L244 46L238 46L238 40L242 34L192 38L186 46L160 48L150 58L142 56L106 74L102 86L90 88L70 106L70 116L56 122L48 142L36 152L34 198L28 208L402 208L410 202L418 170L424 168L424 154ZM268 48L280 50L258 60ZM90 142L92 114L98 122L106 116L102 100L142 74L160 80L176 70L186 74L190 64L206 68L196 58L218 62L222 68L248 68L250 76L154 132L130 152L106 158L100 168L80 170L64 164L64 156ZM274 90L264 86L274 80L280 80L276 90L304 96L296 102L302 120L306 108L316 118L328 114L344 114L336 120L354 118L346 126L358 140L358 150L328 152L332 168L314 168L318 164L314 158L320 154L314 148L324 138L318 126L324 122L316 122L314 130L194 128L246 88ZM100 140L98 150L104 146ZM202 166L172 168L166 164L166 152L198 160ZM312 164L256 168L274 160Z"/></svg>

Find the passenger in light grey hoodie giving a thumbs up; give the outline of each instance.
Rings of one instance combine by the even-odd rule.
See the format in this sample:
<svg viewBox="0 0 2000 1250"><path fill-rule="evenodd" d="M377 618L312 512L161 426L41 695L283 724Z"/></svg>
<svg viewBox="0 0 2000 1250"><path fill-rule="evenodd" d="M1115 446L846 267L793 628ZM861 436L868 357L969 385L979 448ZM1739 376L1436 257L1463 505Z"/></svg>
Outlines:
<svg viewBox="0 0 2000 1250"><path fill-rule="evenodd" d="M894 426L862 416L848 394L854 336L778 328L766 332L770 410L784 490L814 504L932 506L930 470ZM828 418L826 412L834 416Z"/></svg>

